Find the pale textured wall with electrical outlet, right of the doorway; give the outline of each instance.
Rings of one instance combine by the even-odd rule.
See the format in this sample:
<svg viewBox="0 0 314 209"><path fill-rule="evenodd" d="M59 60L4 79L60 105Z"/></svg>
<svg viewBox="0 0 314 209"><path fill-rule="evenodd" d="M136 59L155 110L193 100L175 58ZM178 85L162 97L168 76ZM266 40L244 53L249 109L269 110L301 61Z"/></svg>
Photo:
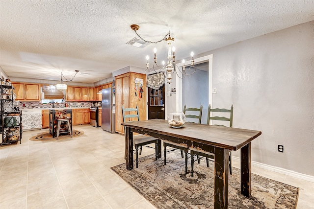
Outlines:
<svg viewBox="0 0 314 209"><path fill-rule="evenodd" d="M209 54L213 107L233 104L234 127L262 131L252 161L314 176L314 21L194 57Z"/></svg>

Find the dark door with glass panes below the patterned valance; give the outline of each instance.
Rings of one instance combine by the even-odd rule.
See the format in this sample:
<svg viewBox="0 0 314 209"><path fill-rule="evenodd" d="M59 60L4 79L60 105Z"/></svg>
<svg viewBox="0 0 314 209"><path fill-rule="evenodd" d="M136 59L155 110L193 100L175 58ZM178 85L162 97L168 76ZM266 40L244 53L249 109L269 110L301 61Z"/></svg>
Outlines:
<svg viewBox="0 0 314 209"><path fill-rule="evenodd" d="M159 89L148 87L148 119L165 119L165 85Z"/></svg>

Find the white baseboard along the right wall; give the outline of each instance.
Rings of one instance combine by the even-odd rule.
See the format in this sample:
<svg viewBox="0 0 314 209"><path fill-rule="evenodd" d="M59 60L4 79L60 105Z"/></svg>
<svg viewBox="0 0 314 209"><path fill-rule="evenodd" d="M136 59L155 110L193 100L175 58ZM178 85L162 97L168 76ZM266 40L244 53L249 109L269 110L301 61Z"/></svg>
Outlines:
<svg viewBox="0 0 314 209"><path fill-rule="evenodd" d="M240 158L239 157L232 156L232 160L240 162ZM263 168L263 169L266 169L266 170L270 170L270 171L274 171L274 172L277 172L277 173L281 173L281 174L285 174L285 175L288 175L288 176L292 176L292 177L295 177L295 178L303 179L305 181L314 182L314 176L306 175L306 174L303 174L303 173L298 173L298 172L295 172L295 171L292 171L292 170L287 170L287 169L281 168L281 167L276 167L276 166L272 166L272 165L258 163L258 162L255 162L255 161L252 161L251 164L256 166L256 167L260 167L260 168Z"/></svg>

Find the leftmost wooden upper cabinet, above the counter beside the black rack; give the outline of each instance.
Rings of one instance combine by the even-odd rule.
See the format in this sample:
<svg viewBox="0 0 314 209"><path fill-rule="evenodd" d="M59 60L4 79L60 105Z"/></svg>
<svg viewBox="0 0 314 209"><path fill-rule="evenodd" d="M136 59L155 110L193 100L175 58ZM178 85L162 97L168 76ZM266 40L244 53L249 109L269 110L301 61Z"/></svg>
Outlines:
<svg viewBox="0 0 314 209"><path fill-rule="evenodd" d="M40 84L14 83L16 100L40 101Z"/></svg>

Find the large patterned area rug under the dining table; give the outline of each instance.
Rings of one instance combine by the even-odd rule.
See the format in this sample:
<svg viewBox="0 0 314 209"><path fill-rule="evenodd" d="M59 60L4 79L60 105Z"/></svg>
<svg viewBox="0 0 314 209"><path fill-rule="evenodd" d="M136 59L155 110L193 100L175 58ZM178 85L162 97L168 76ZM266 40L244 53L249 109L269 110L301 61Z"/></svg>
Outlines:
<svg viewBox="0 0 314 209"><path fill-rule="evenodd" d="M190 160L190 159L189 159ZM190 169L190 163L188 163ZM194 163L194 177L185 175L180 152L155 161L155 155L139 159L138 168L127 170L126 164L111 168L157 209L213 209L213 162L209 168L203 160ZM295 209L299 189L252 174L252 195L240 191L240 170L233 167L229 175L229 209Z"/></svg>

